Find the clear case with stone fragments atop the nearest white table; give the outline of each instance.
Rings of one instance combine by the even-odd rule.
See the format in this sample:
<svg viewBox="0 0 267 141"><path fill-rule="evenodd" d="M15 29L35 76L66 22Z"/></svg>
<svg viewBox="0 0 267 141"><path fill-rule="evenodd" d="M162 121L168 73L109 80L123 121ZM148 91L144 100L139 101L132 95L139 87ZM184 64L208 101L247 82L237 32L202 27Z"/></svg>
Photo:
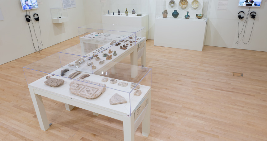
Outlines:
<svg viewBox="0 0 267 141"><path fill-rule="evenodd" d="M84 60L81 67L69 65L80 58ZM97 66L101 61L92 65ZM151 91L151 68L111 61L110 65L98 70L100 73L92 74L88 63L92 62L79 55L59 52L31 63L23 70L28 86L36 92L40 90L128 116L136 114L136 108L146 102L144 100Z"/></svg>

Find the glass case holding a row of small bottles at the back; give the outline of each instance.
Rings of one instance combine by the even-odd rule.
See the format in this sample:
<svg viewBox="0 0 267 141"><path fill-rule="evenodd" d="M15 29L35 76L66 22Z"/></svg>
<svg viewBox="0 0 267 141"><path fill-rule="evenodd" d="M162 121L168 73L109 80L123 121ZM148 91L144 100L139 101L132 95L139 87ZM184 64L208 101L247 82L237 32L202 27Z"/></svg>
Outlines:
<svg viewBox="0 0 267 141"><path fill-rule="evenodd" d="M148 14L147 7L148 7L148 0L104 0L104 1L101 1L102 15L145 16ZM126 12L126 9L127 9L127 12ZM128 13L128 15L126 13Z"/></svg>

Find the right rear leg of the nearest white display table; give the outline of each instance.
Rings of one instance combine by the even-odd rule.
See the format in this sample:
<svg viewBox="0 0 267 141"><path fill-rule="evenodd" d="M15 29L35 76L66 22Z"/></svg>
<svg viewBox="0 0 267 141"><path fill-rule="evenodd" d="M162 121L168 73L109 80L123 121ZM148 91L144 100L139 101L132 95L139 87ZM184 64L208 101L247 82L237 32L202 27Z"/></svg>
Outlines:
<svg viewBox="0 0 267 141"><path fill-rule="evenodd" d="M151 90L148 93L148 108L142 121L142 135L148 137L150 134L150 110L151 110Z"/></svg>

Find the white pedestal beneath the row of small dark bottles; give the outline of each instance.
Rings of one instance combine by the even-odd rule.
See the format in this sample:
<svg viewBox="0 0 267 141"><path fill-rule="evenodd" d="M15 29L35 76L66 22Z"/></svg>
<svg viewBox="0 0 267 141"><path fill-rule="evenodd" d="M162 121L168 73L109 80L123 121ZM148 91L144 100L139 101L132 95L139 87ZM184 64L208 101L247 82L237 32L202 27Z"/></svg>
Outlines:
<svg viewBox="0 0 267 141"><path fill-rule="evenodd" d="M128 25L128 26L144 26L146 27L146 39L148 39L148 15L143 14L143 16L135 16L129 14L128 16L124 14L118 15L102 15L103 24L116 24L116 25Z"/></svg>

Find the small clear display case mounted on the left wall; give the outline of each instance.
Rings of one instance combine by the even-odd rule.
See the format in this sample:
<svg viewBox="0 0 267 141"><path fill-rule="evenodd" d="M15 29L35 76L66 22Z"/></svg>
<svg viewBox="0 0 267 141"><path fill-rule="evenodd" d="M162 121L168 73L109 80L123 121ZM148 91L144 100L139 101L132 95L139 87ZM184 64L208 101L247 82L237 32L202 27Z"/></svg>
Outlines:
<svg viewBox="0 0 267 141"><path fill-rule="evenodd" d="M52 22L53 23L62 23L68 21L68 12L67 9L61 8L50 8Z"/></svg>

